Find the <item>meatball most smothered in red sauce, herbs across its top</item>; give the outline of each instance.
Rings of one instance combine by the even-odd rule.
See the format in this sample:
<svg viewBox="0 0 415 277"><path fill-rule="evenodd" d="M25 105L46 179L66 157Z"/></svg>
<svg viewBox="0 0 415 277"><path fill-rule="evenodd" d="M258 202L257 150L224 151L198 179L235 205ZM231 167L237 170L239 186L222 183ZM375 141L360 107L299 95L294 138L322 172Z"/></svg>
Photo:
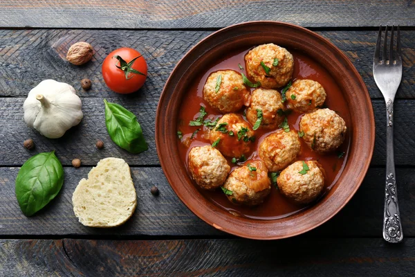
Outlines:
<svg viewBox="0 0 415 277"><path fill-rule="evenodd" d="M209 139L226 157L239 158L250 152L255 141L254 131L249 123L238 114L225 114L216 127L210 130Z"/></svg>

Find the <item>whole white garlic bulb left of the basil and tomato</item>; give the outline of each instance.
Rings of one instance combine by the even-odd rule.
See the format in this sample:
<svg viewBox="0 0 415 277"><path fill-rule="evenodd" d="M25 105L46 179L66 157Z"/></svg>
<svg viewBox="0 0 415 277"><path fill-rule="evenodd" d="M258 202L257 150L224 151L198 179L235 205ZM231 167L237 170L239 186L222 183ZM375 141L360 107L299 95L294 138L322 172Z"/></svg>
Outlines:
<svg viewBox="0 0 415 277"><path fill-rule="evenodd" d="M26 124L49 139L60 138L84 116L75 89L55 80L44 80L30 90L23 108Z"/></svg>

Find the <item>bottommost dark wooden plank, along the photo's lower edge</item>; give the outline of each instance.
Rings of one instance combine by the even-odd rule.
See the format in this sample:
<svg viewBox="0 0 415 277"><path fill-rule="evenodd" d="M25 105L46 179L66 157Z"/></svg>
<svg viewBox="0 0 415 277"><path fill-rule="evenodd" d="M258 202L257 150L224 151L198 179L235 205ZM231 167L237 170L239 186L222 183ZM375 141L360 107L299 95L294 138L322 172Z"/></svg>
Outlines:
<svg viewBox="0 0 415 277"><path fill-rule="evenodd" d="M415 239L1 240L2 276L413 276ZM67 262L70 260L71 262ZM64 261L64 262L62 262Z"/></svg>

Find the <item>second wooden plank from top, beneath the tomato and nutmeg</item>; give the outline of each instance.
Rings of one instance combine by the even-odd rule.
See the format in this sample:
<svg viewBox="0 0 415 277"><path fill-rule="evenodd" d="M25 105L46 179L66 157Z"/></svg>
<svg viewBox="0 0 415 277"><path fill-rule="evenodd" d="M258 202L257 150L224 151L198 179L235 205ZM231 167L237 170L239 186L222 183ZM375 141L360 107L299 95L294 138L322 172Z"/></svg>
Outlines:
<svg viewBox="0 0 415 277"><path fill-rule="evenodd" d="M81 97L114 96L116 93L111 92L102 79L102 60L114 49L129 46L138 49L149 66L149 78L137 94L158 98L178 60L210 33L212 31L0 30L0 96L26 97L28 91L44 79L72 84ZM317 33L349 56L372 98L382 97L372 76L376 30ZM404 71L397 97L415 98L415 30L402 31L401 35ZM93 60L84 66L74 66L65 60L69 46L79 41L90 42L95 48ZM93 82L88 92L81 89L83 78Z"/></svg>

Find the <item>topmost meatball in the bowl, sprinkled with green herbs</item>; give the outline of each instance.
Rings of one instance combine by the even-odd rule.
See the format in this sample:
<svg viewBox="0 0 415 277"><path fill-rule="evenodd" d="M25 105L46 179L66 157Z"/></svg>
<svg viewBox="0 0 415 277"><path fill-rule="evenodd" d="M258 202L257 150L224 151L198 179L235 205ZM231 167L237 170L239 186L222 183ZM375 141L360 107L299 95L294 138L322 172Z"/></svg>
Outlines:
<svg viewBox="0 0 415 277"><path fill-rule="evenodd" d="M284 87L293 77L293 55L275 44L253 48L245 55L245 62L248 76L255 82L261 82L261 87L266 89ZM268 73L266 68L269 69Z"/></svg>

